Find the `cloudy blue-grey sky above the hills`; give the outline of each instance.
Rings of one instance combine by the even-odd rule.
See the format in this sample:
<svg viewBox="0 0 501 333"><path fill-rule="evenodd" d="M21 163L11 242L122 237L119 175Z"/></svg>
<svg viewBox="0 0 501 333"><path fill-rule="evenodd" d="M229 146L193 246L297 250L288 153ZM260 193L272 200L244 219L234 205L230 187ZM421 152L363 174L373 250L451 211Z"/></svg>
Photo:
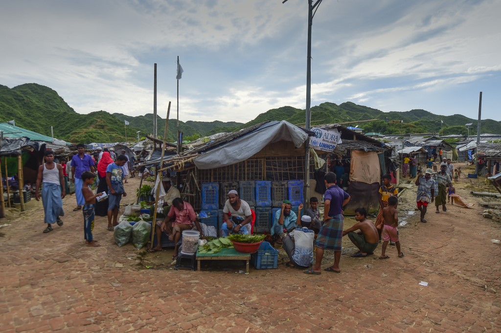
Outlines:
<svg viewBox="0 0 501 333"><path fill-rule="evenodd" d="M79 113L176 107L246 122L306 105L307 0L23 0L0 6L0 84L38 83ZM313 20L312 106L501 120L498 0L324 0ZM171 116L172 117L172 116Z"/></svg>

